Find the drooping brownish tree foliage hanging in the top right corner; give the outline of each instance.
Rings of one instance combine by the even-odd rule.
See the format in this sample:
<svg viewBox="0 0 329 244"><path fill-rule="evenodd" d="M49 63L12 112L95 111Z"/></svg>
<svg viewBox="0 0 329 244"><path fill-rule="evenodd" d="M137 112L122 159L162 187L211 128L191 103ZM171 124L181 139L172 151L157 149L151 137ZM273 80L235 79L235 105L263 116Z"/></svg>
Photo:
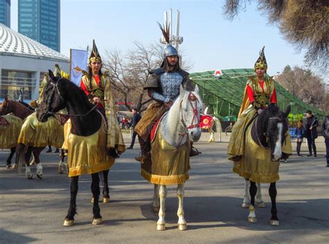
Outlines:
<svg viewBox="0 0 329 244"><path fill-rule="evenodd" d="M224 14L233 19L251 0L226 0ZM278 24L280 32L296 49L306 49L305 63L328 73L328 0L255 0L258 9Z"/></svg>

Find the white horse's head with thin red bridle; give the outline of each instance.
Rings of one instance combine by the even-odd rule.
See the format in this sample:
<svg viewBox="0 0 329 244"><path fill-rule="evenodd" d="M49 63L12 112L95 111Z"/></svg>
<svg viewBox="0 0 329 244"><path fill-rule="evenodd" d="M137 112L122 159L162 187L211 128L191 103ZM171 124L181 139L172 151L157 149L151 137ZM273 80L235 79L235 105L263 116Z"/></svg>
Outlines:
<svg viewBox="0 0 329 244"><path fill-rule="evenodd" d="M199 87L196 86L193 92L189 92L180 86L180 121L187 130L189 140L196 142L201 137L200 113L202 101L199 96Z"/></svg>

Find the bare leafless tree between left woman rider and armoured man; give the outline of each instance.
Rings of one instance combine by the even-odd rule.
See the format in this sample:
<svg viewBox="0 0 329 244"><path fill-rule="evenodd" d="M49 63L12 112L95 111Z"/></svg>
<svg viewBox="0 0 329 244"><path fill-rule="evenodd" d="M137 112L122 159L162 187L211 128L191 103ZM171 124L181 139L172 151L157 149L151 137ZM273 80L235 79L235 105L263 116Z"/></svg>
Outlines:
<svg viewBox="0 0 329 244"><path fill-rule="evenodd" d="M143 89L151 70L160 67L162 63L163 45L153 43L144 45L134 42L133 47L124 54L119 50L106 51L104 67L109 71L112 88L116 91L115 99L124 101L131 111L131 104L135 104L138 112L146 110L150 98ZM185 70L188 70L189 60L184 61Z"/></svg>

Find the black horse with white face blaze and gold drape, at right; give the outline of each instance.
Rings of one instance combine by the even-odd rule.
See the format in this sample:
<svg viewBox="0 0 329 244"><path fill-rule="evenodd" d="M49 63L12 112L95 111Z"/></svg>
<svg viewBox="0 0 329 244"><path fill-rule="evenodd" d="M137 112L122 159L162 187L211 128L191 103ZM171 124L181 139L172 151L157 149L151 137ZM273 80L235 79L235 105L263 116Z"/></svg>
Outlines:
<svg viewBox="0 0 329 244"><path fill-rule="evenodd" d="M257 222L255 215L257 186L255 182L269 183L269 196L272 203L270 224L279 225L276 209L276 181L279 179L280 163L278 161L280 158L289 156L282 149L286 143L289 111L290 106L285 112L282 112L276 105L270 104L267 109L255 117L245 131L244 156L240 161L235 162L233 171L251 182L249 188L251 206L249 207L248 222Z"/></svg>

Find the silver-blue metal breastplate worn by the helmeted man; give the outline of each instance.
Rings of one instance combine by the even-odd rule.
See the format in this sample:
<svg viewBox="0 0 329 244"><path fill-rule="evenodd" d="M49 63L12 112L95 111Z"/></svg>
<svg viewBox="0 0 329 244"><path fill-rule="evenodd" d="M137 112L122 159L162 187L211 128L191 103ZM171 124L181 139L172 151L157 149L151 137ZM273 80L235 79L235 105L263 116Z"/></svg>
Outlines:
<svg viewBox="0 0 329 244"><path fill-rule="evenodd" d="M180 84L183 77L178 73L164 73L160 76L162 95L170 99L176 99L179 95Z"/></svg>

